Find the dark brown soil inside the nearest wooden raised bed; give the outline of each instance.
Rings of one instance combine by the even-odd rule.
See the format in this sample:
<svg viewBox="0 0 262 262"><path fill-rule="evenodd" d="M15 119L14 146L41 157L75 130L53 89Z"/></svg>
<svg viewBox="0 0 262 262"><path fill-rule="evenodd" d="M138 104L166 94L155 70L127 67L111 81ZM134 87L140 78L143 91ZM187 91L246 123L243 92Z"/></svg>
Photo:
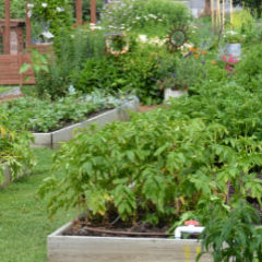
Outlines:
<svg viewBox="0 0 262 262"><path fill-rule="evenodd" d="M98 236L98 237L143 237L143 238L168 238L174 234L167 234L168 227L154 227L148 223L141 223L134 226L120 224L92 225L76 219L73 226L63 233L64 236Z"/></svg>

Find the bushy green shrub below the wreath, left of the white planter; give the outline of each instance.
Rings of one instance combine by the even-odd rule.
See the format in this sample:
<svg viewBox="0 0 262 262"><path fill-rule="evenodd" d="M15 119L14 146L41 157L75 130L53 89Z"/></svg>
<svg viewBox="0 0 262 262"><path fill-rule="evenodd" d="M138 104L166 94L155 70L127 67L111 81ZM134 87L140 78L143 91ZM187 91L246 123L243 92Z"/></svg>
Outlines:
<svg viewBox="0 0 262 262"><path fill-rule="evenodd" d="M109 93L119 90L135 94L142 103L159 103L162 93L155 86L157 57L150 45L136 46L126 55L88 59L82 71L74 71L75 88L88 93L102 88Z"/></svg>

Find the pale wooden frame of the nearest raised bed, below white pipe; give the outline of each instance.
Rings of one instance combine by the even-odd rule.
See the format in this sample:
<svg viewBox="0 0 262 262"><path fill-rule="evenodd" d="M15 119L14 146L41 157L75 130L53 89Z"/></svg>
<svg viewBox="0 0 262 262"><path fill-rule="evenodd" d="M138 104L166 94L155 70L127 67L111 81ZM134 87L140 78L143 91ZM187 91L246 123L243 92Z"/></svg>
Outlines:
<svg viewBox="0 0 262 262"><path fill-rule="evenodd" d="M64 236L71 227L48 236L48 262L193 262L201 248L191 239ZM201 261L213 260L206 254Z"/></svg>

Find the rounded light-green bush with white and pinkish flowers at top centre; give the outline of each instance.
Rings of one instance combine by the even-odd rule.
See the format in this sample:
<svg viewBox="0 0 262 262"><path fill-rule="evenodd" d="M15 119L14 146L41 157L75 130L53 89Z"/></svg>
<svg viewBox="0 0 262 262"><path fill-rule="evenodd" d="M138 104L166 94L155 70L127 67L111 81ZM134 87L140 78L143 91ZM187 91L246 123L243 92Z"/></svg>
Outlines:
<svg viewBox="0 0 262 262"><path fill-rule="evenodd" d="M190 12L184 4L167 0L121 0L112 1L105 5L102 13L102 22L107 29L118 32L134 29L156 31L162 28L162 36L165 36L170 27L187 25L190 21Z"/></svg>

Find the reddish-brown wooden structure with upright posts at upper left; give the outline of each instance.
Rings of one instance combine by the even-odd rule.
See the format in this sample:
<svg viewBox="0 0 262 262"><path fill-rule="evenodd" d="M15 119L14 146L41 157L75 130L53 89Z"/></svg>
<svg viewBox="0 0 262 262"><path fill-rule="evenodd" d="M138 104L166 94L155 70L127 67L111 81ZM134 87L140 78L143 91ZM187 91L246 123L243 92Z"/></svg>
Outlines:
<svg viewBox="0 0 262 262"><path fill-rule="evenodd" d="M82 0L76 1L76 23L82 24ZM5 14L4 20L0 20L0 29L3 28L3 55L0 55L0 85L17 85L23 84L25 76L26 84L35 84L33 71L28 71L21 75L19 73L23 63L31 62L29 48L35 47L40 52L49 52L51 44L33 45L31 39L31 19L28 7L26 4L25 20L11 20L10 2L4 0ZM96 22L96 1L91 0L91 23ZM26 40L24 40L23 32L26 32Z"/></svg>

